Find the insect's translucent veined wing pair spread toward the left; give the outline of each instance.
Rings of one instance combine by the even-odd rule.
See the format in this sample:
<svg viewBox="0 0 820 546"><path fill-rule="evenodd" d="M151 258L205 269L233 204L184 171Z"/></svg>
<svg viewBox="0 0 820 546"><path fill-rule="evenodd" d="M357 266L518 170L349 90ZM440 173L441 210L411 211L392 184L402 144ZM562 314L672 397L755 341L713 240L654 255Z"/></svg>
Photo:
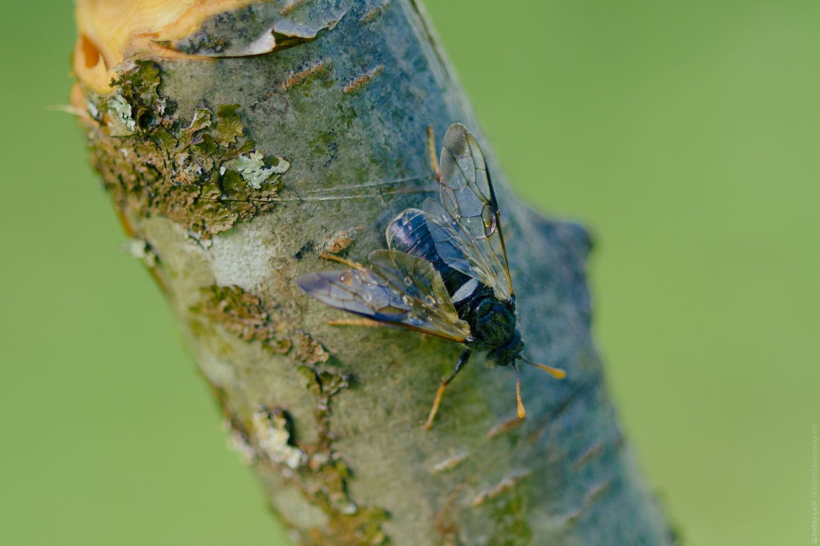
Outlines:
<svg viewBox="0 0 820 546"><path fill-rule="evenodd" d="M458 318L441 275L430 262L395 250L370 253L371 267L317 271L296 283L331 307L464 343L470 326Z"/></svg>

